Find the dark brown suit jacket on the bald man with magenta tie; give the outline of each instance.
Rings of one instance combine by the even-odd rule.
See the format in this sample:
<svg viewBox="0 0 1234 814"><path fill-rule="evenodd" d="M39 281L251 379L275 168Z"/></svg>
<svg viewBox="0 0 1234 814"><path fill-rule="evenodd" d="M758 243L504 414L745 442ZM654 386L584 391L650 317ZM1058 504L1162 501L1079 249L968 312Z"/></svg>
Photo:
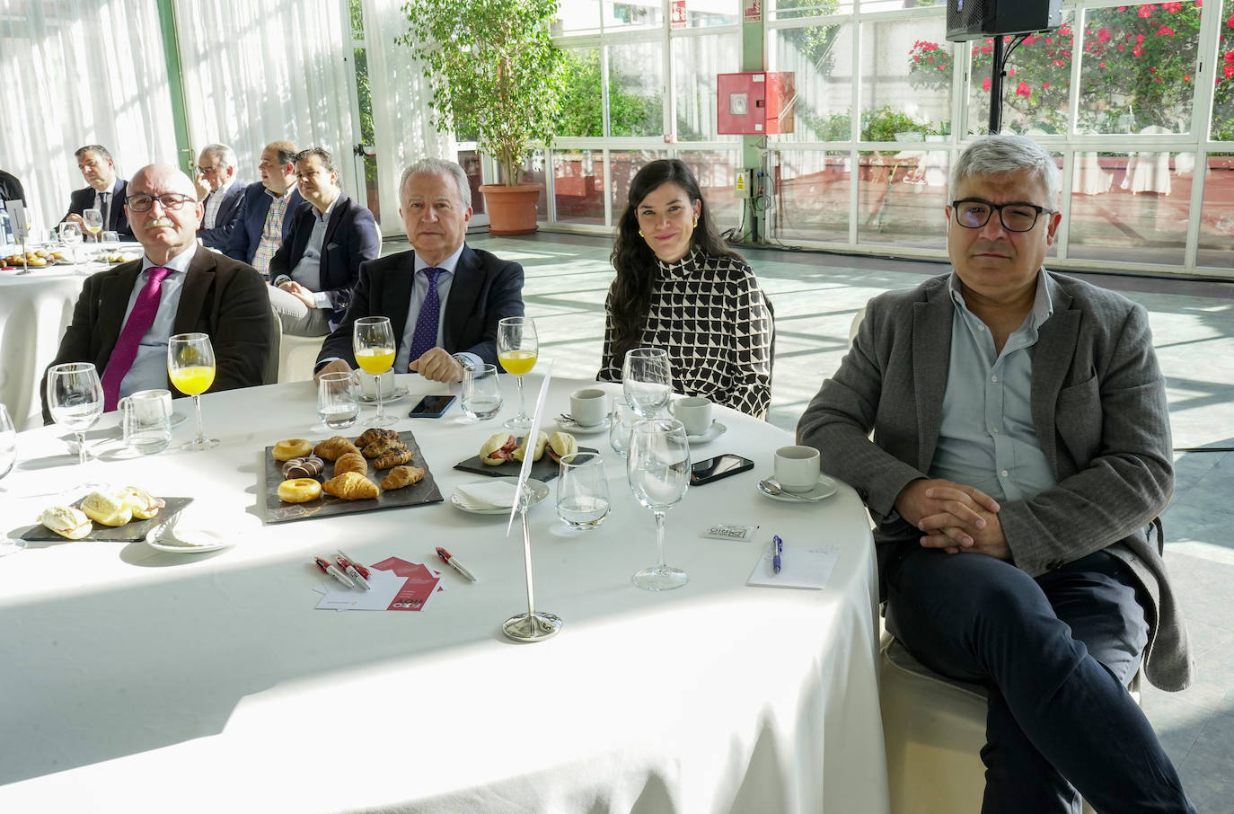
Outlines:
<svg viewBox="0 0 1234 814"><path fill-rule="evenodd" d="M133 261L86 278L73 309L73 321L48 367L64 362L94 362L99 376L102 376L123 329L125 310L141 271L142 262ZM252 266L201 247L193 256L184 288L180 289L180 305L172 332L210 335L215 348L211 393L264 383L273 342L270 296L265 292L265 282ZM47 379L46 372L43 379ZM173 395L183 395L170 379L167 389ZM39 390L43 421L51 424L46 385Z"/></svg>

